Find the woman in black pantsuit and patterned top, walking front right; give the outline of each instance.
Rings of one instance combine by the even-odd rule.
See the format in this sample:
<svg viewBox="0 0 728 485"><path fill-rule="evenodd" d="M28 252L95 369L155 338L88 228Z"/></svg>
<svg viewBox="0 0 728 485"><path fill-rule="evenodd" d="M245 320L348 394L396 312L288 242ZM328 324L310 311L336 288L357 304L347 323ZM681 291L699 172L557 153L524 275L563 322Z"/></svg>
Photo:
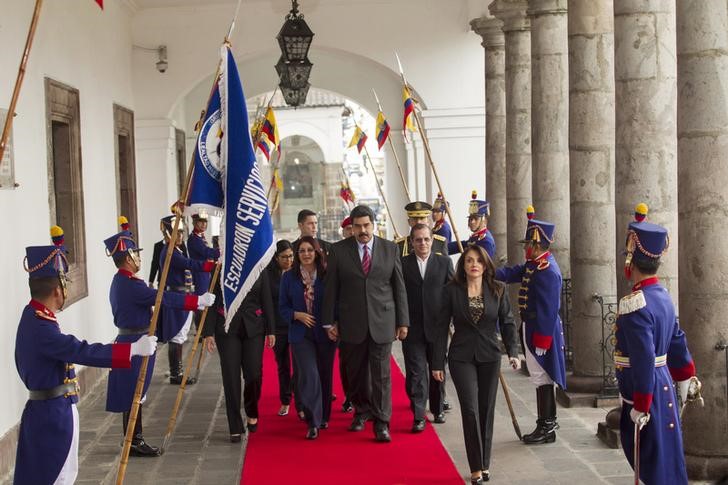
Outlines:
<svg viewBox="0 0 728 485"><path fill-rule="evenodd" d="M445 287L432 375L445 377L450 320L455 333L447 350L450 375L460 401L471 483L490 480L493 413L498 392L501 351L498 324L513 369L518 369L518 339L505 285L495 281L495 267L480 246L469 246Z"/></svg>

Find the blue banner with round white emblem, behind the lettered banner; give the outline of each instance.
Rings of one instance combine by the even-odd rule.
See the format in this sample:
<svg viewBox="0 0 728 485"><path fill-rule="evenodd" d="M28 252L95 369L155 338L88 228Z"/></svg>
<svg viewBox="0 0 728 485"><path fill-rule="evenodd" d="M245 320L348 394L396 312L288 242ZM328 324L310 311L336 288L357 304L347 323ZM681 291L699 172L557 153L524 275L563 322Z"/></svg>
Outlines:
<svg viewBox="0 0 728 485"><path fill-rule="evenodd" d="M195 146L195 166L192 172L186 214L200 209L219 214L223 207L221 144L222 124L220 112L220 83L215 86L200 126Z"/></svg>

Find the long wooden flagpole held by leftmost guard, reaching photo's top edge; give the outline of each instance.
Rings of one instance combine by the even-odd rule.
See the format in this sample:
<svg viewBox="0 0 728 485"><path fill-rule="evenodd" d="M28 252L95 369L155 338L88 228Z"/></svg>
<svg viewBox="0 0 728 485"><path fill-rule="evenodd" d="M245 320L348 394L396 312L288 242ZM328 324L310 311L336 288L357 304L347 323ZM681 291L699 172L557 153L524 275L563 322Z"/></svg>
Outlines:
<svg viewBox="0 0 728 485"><path fill-rule="evenodd" d="M230 28L228 29L228 34L225 36L225 40L223 42L224 44L230 43L230 35L232 34L233 28L235 26L235 19L238 14L238 10L240 9L240 2L241 0L238 0L238 6L235 10L235 16L233 17L232 22L230 23ZM215 70L215 76L213 77L213 83L210 87L210 94L207 97L207 102L205 103L205 107L210 103L210 99L212 98L213 93L215 92L215 86L217 85L218 77L220 76L220 68L222 66L222 59L218 61L217 69ZM205 121L205 110L203 109L200 113L200 119L197 121L195 127L197 129L202 127L202 123ZM164 295L164 288L167 283L167 274L169 273L169 265L172 261L172 252L175 250L175 244L177 241L177 234L179 233L179 225L182 220L182 214L185 207L185 204L187 203L187 198L189 196L190 191L190 184L192 182L192 173L194 172L195 167L195 153L193 152L191 155L190 164L187 167L187 176L185 179L185 185L184 185L184 192L182 193L182 197L180 197L180 200L178 200L173 206L172 206L172 212L175 213L177 217L174 218L174 226L172 227L172 234L170 235L169 241L167 242L167 254L164 258L164 265L162 266L162 276L159 280L159 288L157 289L157 297L154 301L154 311L152 312L152 319L149 322L149 334L150 336L154 335L157 330L157 321L159 319L159 310L162 306L162 296ZM134 435L134 427L136 426L136 420L137 416L139 414L139 406L141 404L142 399L142 391L144 390L144 381L146 380L147 376L147 368L149 365L149 357L143 357L142 358L142 365L139 369L139 377L137 379L136 389L134 390L134 398L131 402L131 410L129 411L129 422L127 424L127 430L126 435L124 436L124 446L121 450L121 457L119 458L119 469L116 474L116 485L122 485L124 483L124 476L126 475L126 467L129 464L129 450L131 450L131 441L132 437Z"/></svg>

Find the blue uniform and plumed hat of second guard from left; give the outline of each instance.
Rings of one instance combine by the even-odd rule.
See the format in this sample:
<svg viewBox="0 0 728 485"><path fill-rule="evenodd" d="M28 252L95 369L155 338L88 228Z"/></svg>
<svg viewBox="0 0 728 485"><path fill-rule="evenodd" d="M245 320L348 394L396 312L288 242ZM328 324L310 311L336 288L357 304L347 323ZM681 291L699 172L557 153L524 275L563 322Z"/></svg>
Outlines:
<svg viewBox="0 0 728 485"><path fill-rule="evenodd" d="M136 242L128 231L122 231L104 241L109 256L126 255L129 251L138 250ZM136 342L149 332L149 322L152 317L152 307L157 297L157 290L149 288L147 284L133 273L119 269L114 275L109 290L111 312L114 315L114 325L119 328L116 342ZM179 293L165 292L162 304L180 310L196 310L197 297ZM131 409L132 399L142 357L132 358L131 369L112 370L109 374L109 384L106 393L106 410L112 413L126 412ZM146 395L154 371L155 356L149 357L147 375L142 395Z"/></svg>

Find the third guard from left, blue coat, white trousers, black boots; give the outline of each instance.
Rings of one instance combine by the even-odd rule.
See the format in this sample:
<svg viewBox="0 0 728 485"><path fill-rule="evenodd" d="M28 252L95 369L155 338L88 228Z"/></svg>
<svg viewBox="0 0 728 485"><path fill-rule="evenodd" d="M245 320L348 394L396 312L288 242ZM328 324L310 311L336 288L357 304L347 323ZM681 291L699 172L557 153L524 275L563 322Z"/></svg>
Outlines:
<svg viewBox="0 0 728 485"><path fill-rule="evenodd" d="M163 217L160 229L165 240L172 237L175 216ZM166 291L182 295L193 295L195 287L192 274L197 271L209 273L215 267L214 261L197 261L184 255L181 249L182 235L184 232L183 223L180 221L177 231L177 241L174 245L172 259L167 274ZM171 244L170 244L171 245ZM160 265L167 257L167 249L170 245L164 246L159 256ZM200 295L204 301L212 300L212 295ZM187 341L187 333L192 325L193 313L188 310L163 305L162 324L157 326L157 335L160 342L167 342L167 357L169 358L169 382L170 384L182 384L182 344ZM187 385L194 384L194 379L187 379Z"/></svg>

